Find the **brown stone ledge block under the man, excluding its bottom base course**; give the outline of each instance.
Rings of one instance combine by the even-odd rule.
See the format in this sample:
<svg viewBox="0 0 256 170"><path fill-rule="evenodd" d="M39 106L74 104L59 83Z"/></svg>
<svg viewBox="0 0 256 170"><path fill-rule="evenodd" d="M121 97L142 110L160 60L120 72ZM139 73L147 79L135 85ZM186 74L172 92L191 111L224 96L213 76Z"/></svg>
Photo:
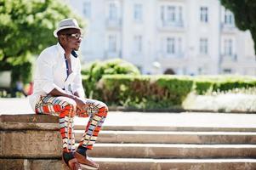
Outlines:
<svg viewBox="0 0 256 170"><path fill-rule="evenodd" d="M0 158L5 160L61 159L62 141L57 116L2 115L0 135Z"/></svg>

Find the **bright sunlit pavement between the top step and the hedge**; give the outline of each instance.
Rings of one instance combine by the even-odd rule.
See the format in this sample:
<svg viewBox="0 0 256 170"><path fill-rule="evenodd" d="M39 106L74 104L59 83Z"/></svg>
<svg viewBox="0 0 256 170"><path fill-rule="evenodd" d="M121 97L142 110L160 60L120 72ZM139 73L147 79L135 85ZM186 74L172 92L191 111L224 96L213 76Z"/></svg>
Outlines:
<svg viewBox="0 0 256 170"><path fill-rule="evenodd" d="M28 99L0 99L0 115L31 114ZM85 124L87 118L75 119ZM105 125L113 126L176 126L176 127L256 127L256 114L222 113L148 113L110 111Z"/></svg>

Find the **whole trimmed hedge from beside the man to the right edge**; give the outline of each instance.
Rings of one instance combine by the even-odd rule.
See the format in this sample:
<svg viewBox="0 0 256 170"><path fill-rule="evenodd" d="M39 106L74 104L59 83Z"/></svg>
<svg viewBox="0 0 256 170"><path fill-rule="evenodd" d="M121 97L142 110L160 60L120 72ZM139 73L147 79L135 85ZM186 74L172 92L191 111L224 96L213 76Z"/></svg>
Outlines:
<svg viewBox="0 0 256 170"><path fill-rule="evenodd" d="M83 77L88 98L99 99L111 106L137 109L182 109L183 101L191 92L206 94L256 87L254 77L235 76L105 75L95 83L93 91L89 81L88 76Z"/></svg>

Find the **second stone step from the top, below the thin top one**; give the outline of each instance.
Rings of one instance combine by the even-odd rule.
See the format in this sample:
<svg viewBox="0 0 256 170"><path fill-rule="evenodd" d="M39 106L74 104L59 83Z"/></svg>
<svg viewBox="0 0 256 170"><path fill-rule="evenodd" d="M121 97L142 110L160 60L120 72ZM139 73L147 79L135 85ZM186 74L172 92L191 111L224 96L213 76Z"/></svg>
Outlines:
<svg viewBox="0 0 256 170"><path fill-rule="evenodd" d="M76 130L76 142L84 130ZM251 132L100 131L97 143L256 144Z"/></svg>

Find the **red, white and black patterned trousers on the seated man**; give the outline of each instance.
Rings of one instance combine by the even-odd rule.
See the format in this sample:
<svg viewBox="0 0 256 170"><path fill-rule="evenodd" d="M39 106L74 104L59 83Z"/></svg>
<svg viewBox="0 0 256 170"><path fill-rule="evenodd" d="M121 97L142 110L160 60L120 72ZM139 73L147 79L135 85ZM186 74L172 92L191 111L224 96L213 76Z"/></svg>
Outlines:
<svg viewBox="0 0 256 170"><path fill-rule="evenodd" d="M75 148L74 116L88 117L89 121L79 142L79 146L93 149L93 145L105 121L107 106L98 100L85 99L86 105L82 111L77 111L75 100L66 97L43 96L36 105L37 114L47 114L60 117L60 133L63 141L63 151L73 152Z"/></svg>

